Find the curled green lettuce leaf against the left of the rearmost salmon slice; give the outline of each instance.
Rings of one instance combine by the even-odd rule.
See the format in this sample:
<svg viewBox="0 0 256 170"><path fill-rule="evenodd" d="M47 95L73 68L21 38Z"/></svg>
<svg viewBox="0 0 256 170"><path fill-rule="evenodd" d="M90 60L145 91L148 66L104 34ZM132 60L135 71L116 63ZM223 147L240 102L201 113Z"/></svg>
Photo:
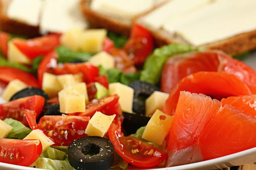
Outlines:
<svg viewBox="0 0 256 170"><path fill-rule="evenodd" d="M156 85L160 81L163 65L168 57L194 51L190 45L171 44L156 48L154 53L148 57L140 74L140 80Z"/></svg>

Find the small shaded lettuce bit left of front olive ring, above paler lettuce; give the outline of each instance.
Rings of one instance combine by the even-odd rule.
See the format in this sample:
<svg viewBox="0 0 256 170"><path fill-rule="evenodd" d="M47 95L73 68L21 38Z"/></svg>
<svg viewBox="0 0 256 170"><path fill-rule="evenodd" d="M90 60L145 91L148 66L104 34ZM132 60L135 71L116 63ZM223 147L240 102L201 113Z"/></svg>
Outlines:
<svg viewBox="0 0 256 170"><path fill-rule="evenodd" d="M39 156L39 158L49 158L53 160L64 161L67 160L67 154L58 149L49 147Z"/></svg>

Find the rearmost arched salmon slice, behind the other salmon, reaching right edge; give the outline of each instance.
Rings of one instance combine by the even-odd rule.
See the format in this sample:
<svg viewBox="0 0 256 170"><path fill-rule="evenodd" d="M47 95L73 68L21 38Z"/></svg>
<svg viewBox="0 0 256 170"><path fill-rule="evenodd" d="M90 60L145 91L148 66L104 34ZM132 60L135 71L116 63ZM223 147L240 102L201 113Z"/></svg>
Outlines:
<svg viewBox="0 0 256 170"><path fill-rule="evenodd" d="M213 71L235 75L256 94L256 71L221 51L194 51L169 57L163 67L161 91L170 93L184 77L199 72Z"/></svg>

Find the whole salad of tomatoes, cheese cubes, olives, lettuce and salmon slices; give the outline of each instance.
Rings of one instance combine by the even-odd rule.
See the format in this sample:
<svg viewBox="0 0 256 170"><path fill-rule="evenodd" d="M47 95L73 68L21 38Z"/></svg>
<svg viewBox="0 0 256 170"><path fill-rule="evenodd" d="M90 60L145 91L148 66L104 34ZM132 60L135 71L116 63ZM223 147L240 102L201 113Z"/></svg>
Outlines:
<svg viewBox="0 0 256 170"><path fill-rule="evenodd" d="M147 169L256 147L256 71L221 51L155 48L137 24L130 37L0 32L0 51L0 162Z"/></svg>

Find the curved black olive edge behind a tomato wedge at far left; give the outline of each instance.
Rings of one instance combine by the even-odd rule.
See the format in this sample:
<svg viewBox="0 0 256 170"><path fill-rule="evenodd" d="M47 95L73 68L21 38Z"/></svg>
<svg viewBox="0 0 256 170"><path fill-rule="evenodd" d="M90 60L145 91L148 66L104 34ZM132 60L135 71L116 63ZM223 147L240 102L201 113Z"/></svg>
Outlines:
<svg viewBox="0 0 256 170"><path fill-rule="evenodd" d="M42 89L30 87L30 88L25 88L21 91L18 91L16 94L12 96L10 101L20 99L22 97L34 96L34 95L43 96L45 101L49 100L49 96Z"/></svg>

